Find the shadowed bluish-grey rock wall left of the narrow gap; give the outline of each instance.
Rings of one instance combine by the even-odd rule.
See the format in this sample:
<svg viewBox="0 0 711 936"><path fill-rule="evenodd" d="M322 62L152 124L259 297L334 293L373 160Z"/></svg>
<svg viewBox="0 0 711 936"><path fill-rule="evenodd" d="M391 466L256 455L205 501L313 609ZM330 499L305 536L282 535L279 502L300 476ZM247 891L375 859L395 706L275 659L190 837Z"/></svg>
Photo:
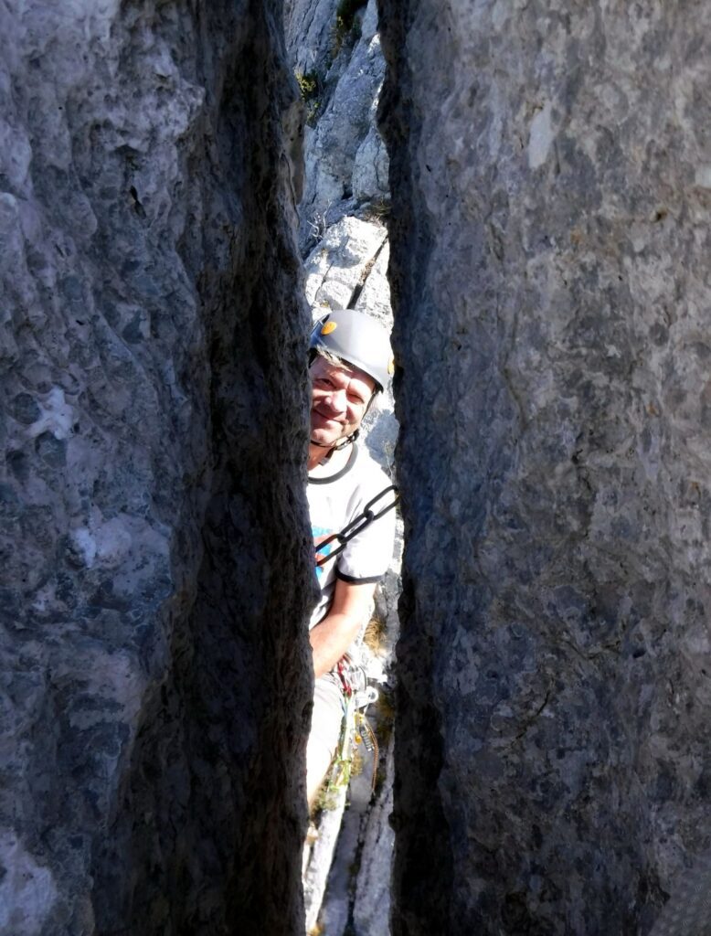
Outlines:
<svg viewBox="0 0 711 936"><path fill-rule="evenodd" d="M10 2L0 47L0 931L298 932L281 8Z"/></svg>

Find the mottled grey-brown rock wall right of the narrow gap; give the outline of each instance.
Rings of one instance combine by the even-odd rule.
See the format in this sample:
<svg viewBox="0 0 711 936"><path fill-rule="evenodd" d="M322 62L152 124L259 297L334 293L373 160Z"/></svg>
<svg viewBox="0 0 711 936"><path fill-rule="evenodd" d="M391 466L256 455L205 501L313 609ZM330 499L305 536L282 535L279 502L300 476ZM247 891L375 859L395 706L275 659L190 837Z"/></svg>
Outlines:
<svg viewBox="0 0 711 936"><path fill-rule="evenodd" d="M711 11L381 12L393 932L647 933L711 833Z"/></svg>

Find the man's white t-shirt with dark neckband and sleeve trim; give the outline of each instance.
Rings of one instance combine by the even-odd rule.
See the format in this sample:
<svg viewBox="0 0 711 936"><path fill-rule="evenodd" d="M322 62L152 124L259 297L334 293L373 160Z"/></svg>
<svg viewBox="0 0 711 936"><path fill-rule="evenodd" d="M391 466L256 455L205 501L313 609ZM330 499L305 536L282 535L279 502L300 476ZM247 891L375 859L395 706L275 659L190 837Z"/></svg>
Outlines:
<svg viewBox="0 0 711 936"><path fill-rule="evenodd" d="M328 536L341 533L373 498L392 484L365 449L356 443L351 447L350 458L341 471L330 477L309 476L307 496L316 558L338 548L338 540L333 540L319 551L320 544ZM386 505L392 504L394 496L395 492L389 490L379 498L371 507L373 513L377 514ZM326 616L337 578L361 585L383 578L392 559L394 538L395 510L388 510L385 516L373 520L356 534L337 556L316 566L321 597L313 609L310 627Z"/></svg>

